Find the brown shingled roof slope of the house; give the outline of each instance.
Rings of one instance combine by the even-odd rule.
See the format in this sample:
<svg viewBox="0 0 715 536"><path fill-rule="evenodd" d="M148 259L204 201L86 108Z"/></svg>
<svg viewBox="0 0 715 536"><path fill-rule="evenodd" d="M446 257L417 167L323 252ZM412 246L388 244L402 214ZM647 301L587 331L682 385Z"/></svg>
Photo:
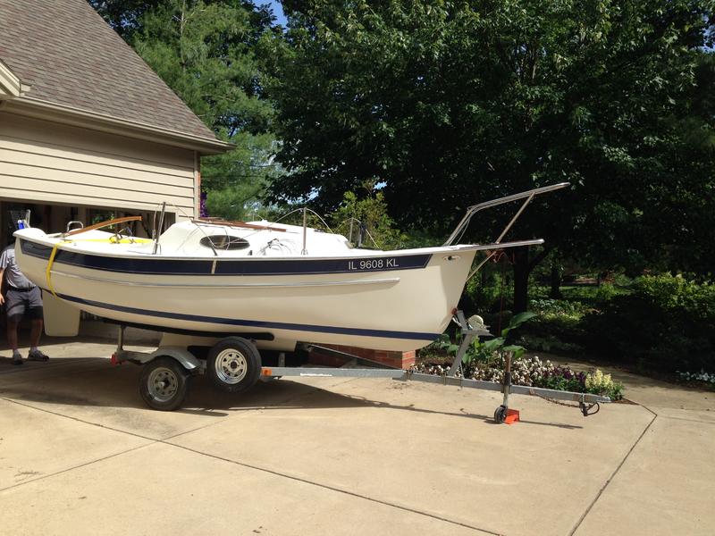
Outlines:
<svg viewBox="0 0 715 536"><path fill-rule="evenodd" d="M28 97L215 140L86 0L0 0L0 59Z"/></svg>

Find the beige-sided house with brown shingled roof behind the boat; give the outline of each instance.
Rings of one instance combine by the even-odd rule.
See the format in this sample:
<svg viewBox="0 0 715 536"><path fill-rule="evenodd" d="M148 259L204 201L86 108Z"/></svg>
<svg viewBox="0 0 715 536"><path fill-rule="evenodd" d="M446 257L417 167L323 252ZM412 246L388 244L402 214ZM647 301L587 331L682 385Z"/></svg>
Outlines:
<svg viewBox="0 0 715 536"><path fill-rule="evenodd" d="M31 225L198 215L200 158L225 152L86 0L0 0L0 246ZM148 221L148 223L147 223Z"/></svg>

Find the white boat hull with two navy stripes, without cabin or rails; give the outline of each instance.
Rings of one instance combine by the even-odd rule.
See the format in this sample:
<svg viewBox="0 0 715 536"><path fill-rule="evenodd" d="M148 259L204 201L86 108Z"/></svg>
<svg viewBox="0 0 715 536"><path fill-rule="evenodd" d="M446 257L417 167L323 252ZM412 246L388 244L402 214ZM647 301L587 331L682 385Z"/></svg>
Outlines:
<svg viewBox="0 0 715 536"><path fill-rule="evenodd" d="M268 334L272 340L258 339L259 347L286 351L298 341L395 351L424 347L450 322L477 249L128 258L60 244L50 262L54 243L40 232L17 233L22 272L80 309L157 330Z"/></svg>

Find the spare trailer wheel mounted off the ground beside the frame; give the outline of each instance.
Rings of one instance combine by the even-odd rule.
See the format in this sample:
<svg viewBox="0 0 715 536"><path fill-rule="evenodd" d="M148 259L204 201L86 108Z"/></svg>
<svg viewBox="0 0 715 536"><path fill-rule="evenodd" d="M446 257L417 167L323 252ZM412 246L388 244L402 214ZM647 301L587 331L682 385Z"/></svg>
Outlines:
<svg viewBox="0 0 715 536"><path fill-rule="evenodd" d="M261 373L261 356L246 339L220 340L208 352L206 373L219 389L240 393L254 386Z"/></svg>

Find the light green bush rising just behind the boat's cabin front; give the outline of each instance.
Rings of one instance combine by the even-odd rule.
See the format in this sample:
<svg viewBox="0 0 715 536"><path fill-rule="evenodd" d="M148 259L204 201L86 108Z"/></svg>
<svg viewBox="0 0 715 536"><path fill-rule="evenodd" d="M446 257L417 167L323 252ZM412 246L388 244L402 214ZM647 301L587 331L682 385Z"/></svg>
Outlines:
<svg viewBox="0 0 715 536"><path fill-rule="evenodd" d="M342 203L332 213L332 230L347 237L357 245L361 227L366 230L362 247L378 249L398 249L404 247L406 237L395 229L395 223L387 214L387 205L383 192L374 189L367 181L364 197L357 197L353 192L345 192Z"/></svg>

